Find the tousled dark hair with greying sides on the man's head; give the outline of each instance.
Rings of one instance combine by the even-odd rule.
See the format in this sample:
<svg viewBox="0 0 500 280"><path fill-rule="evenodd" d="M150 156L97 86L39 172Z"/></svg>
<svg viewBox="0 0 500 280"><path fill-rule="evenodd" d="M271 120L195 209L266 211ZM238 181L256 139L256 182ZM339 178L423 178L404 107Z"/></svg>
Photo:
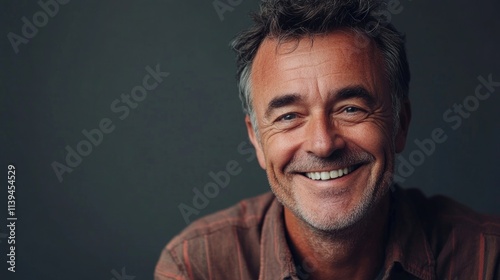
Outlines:
<svg viewBox="0 0 500 280"><path fill-rule="evenodd" d="M237 80L243 112L258 134L252 105L251 68L257 50L266 39L279 43L348 29L375 42L385 61L385 76L391 89L395 130L401 102L408 98L410 70L405 37L389 22L386 3L377 0L262 0L254 13L254 25L231 43L236 52Z"/></svg>

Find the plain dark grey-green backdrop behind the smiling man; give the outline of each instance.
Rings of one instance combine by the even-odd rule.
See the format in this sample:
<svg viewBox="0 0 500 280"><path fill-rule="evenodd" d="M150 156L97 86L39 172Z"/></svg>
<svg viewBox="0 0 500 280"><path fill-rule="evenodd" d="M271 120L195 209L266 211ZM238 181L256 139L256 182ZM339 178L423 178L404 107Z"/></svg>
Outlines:
<svg viewBox="0 0 500 280"><path fill-rule="evenodd" d="M500 2L401 5L392 22L407 34L413 76L403 156L435 128L448 135L403 185L500 214L500 88L457 130L443 120L474 93L479 75L500 81ZM178 205L213 181L210 171L230 160L242 168L198 217L268 190L257 161L237 150L247 136L228 47L256 7L244 0L221 20L212 1L73 0L15 54L7 34L20 35L21 18L41 8L2 1L0 159L2 172L16 166L18 217L17 272L6 274L0 238L2 279L112 279L124 267L136 280L152 279L161 249L186 226ZM158 63L170 76L120 120L111 102ZM115 130L59 182L51 163L64 163L65 147L75 148L81 131L102 118Z"/></svg>

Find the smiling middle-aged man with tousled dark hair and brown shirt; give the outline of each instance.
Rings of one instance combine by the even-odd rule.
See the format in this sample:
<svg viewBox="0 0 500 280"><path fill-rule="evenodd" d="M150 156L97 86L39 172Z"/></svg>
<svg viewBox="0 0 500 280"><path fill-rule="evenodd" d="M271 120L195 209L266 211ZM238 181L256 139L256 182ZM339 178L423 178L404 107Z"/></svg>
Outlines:
<svg viewBox="0 0 500 280"><path fill-rule="evenodd" d="M411 112L376 1L263 1L234 42L272 194L194 222L155 279L500 279L500 221L392 183Z"/></svg>

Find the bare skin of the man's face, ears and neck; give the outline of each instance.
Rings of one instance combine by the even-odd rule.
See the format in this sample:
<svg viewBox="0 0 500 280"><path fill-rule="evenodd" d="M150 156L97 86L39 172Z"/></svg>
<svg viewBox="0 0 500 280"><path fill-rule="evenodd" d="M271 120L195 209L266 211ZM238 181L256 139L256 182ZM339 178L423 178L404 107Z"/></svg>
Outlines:
<svg viewBox="0 0 500 280"><path fill-rule="evenodd" d="M337 30L312 40L268 38L252 65L259 137L247 116L248 134L285 206L295 261L321 267L309 269L309 279L373 279L384 256L388 190L410 109L404 102L394 131L382 54L358 37ZM351 172L305 176L341 168Z"/></svg>

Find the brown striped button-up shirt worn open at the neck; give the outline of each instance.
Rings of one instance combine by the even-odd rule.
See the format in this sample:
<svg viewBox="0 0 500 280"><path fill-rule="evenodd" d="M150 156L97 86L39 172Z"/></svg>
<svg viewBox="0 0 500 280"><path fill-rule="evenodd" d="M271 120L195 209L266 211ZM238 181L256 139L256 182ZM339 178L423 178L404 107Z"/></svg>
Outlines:
<svg viewBox="0 0 500 280"><path fill-rule="evenodd" d="M393 198L381 279L500 279L498 217L416 189L395 187ZM192 223L161 253L155 279L308 279L310 269L294 262L283 206L266 193Z"/></svg>

